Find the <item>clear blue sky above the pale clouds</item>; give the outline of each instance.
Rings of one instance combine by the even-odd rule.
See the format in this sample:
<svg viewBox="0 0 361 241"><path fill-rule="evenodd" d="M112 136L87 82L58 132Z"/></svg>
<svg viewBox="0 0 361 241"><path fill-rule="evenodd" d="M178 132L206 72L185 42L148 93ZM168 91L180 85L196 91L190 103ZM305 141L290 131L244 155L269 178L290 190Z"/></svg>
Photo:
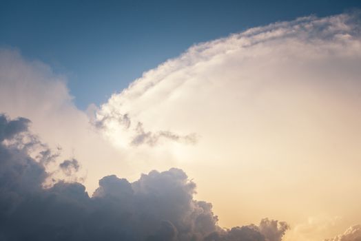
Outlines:
<svg viewBox="0 0 361 241"><path fill-rule="evenodd" d="M99 105L190 45L274 21L361 8L360 0L0 0L0 48L68 77L76 105Z"/></svg>

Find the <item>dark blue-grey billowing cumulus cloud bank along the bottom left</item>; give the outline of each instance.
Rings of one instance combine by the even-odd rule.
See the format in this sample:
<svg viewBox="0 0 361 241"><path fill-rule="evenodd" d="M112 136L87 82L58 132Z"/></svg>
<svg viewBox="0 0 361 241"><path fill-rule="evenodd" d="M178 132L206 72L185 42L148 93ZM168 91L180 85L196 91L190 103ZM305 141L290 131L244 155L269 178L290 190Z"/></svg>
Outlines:
<svg viewBox="0 0 361 241"><path fill-rule="evenodd" d="M78 182L59 181L45 189L46 161L32 158L19 143L3 141L27 132L28 120L0 120L0 240L278 241L288 229L268 219L259 226L221 229L212 205L194 200L196 185L174 168L151 171L132 183L106 176L92 197ZM79 163L65 160L60 168L66 173Z"/></svg>

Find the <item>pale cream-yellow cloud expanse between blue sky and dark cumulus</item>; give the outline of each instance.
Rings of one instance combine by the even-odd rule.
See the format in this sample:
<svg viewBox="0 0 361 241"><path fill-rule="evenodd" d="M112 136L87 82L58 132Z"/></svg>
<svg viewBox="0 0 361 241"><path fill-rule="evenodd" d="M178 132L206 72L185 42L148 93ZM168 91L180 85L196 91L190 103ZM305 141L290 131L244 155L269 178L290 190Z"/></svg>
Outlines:
<svg viewBox="0 0 361 241"><path fill-rule="evenodd" d="M86 114L63 77L1 50L0 110L77 158L90 192L179 167L220 226L268 217L291 225L286 240L324 240L361 223L360 30L341 14L200 43Z"/></svg>

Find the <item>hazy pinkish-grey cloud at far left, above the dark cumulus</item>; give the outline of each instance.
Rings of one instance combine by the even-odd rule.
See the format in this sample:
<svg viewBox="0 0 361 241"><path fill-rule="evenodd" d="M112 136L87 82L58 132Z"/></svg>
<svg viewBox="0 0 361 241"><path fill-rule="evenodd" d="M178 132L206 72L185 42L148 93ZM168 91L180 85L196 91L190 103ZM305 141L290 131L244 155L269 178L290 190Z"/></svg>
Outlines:
<svg viewBox="0 0 361 241"><path fill-rule="evenodd" d="M87 114L75 107L66 83L65 76L55 73L49 65L25 59L18 50L0 48L0 113L11 118L24 116L32 121L38 143L41 140L48 146L43 147L43 151L52 150L51 158L47 156L49 151L41 154L46 156L43 161L52 160L47 169L56 171L58 178L63 178L65 173L59 171L55 160L71 160L76 156L83 167L76 176L91 176L85 185L94 191L99 178L114 167L121 165L123 173L130 169L123 151L107 143L92 127ZM0 135L9 133L1 131ZM101 167L97 165L98 160L103 160Z"/></svg>

